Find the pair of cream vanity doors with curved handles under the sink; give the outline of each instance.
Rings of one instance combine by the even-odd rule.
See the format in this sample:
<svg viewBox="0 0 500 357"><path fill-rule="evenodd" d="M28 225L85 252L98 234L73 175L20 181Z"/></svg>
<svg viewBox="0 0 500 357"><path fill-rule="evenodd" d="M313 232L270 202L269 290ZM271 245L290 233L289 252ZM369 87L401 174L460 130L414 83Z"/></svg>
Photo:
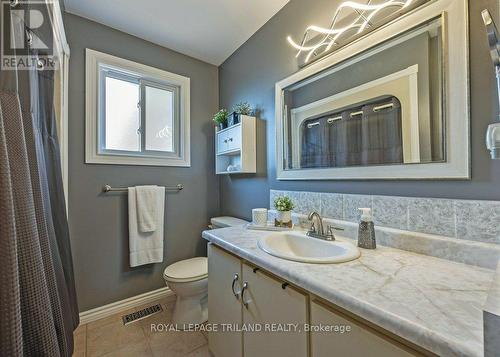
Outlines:
<svg viewBox="0 0 500 357"><path fill-rule="evenodd" d="M253 266L213 244L209 245L208 276L208 322L218 324L218 331L208 335L215 357L308 355L308 336L303 332L306 294L260 269L254 272ZM261 331L223 332L223 324ZM281 328L289 331L279 331Z"/></svg>

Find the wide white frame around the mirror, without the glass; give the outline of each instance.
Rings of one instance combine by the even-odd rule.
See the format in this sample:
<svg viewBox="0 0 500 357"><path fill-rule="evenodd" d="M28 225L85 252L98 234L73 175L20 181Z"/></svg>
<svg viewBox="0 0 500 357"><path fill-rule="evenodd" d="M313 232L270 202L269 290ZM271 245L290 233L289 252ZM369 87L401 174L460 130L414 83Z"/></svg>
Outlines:
<svg viewBox="0 0 500 357"><path fill-rule="evenodd" d="M445 140L446 161L422 164L284 170L283 90L295 83L362 54L397 34L438 16L445 20ZM451 19L452 21L448 21ZM278 180L414 180L470 179L469 18L467 0L435 0L369 33L337 52L275 85L276 170Z"/></svg>

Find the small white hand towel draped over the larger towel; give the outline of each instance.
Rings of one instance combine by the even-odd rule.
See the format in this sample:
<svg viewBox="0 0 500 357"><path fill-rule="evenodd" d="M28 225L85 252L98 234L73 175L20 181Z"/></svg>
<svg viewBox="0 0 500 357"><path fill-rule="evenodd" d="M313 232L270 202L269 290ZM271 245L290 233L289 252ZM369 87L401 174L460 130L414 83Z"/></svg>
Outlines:
<svg viewBox="0 0 500 357"><path fill-rule="evenodd" d="M164 195L158 186L136 186L137 224L139 232L147 233L156 230L159 207L158 196ZM162 217L163 220L163 217Z"/></svg>

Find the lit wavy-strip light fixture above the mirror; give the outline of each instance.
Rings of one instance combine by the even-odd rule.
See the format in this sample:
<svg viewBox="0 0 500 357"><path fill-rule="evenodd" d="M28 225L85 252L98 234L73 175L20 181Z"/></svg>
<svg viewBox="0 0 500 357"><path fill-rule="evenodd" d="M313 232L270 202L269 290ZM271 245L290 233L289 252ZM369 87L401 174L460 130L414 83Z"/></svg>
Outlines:
<svg viewBox="0 0 500 357"><path fill-rule="evenodd" d="M372 4L372 0L368 0L366 4L357 3L354 1L346 1L337 8L333 16L329 28L324 28L316 25L311 25L306 28L302 41L295 42L291 36L287 37L288 43L298 50L296 57L301 53L306 54L304 60L307 64L313 57L329 52L333 46L338 45L338 40L347 34L359 35L367 27L373 26L372 21L375 16L382 10L394 7L396 10L392 13L395 14L402 9L408 8L415 0L386 0L379 4ZM349 11L355 15L354 21L343 27L336 27L340 16ZM349 16L349 14L347 14ZM353 31L355 30L354 34ZM317 40L316 40L317 38ZM308 42L313 42L308 44Z"/></svg>

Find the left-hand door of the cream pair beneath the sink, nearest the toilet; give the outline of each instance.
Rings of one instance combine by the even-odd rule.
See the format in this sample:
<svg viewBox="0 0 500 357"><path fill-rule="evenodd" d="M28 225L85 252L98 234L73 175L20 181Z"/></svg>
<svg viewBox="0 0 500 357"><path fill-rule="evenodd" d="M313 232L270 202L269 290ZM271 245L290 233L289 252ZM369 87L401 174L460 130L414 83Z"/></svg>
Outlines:
<svg viewBox="0 0 500 357"><path fill-rule="evenodd" d="M209 332L208 344L216 357L242 356L242 332L222 331L222 326L229 326L228 324L241 326L240 283L240 260L209 244L208 322L217 326L218 330ZM233 293L233 288L237 296Z"/></svg>

